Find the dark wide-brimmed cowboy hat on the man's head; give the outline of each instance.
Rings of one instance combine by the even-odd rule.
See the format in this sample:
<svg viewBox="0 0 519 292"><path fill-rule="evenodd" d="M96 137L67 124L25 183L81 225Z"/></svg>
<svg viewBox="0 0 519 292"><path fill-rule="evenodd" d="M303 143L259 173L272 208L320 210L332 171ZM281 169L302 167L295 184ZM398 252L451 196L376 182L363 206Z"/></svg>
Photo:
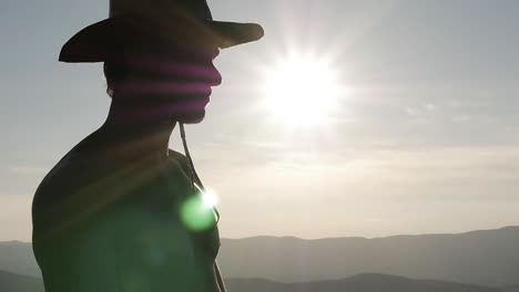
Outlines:
<svg viewBox="0 0 519 292"><path fill-rule="evenodd" d="M206 0L110 0L108 19L86 27L61 49L61 62L104 62L141 35L175 45L221 49L260 40L256 23L214 21Z"/></svg>

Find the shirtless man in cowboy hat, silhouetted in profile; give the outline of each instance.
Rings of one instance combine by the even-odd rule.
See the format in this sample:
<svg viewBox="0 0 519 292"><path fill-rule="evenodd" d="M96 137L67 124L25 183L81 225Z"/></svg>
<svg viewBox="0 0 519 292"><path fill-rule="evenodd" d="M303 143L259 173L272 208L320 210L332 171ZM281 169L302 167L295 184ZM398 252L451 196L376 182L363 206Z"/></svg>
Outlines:
<svg viewBox="0 0 519 292"><path fill-rule="evenodd" d="M60 61L104 62L112 105L34 196L47 292L224 290L217 212L169 139L203 119L220 49L262 36L258 24L213 21L205 0L113 0L109 19L69 40Z"/></svg>

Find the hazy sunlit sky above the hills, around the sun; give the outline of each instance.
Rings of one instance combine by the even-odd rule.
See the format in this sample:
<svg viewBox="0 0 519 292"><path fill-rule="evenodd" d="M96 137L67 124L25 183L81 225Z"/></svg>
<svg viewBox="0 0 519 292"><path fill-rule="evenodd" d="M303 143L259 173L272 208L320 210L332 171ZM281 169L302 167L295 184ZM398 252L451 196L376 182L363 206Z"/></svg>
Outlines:
<svg viewBox="0 0 519 292"><path fill-rule="evenodd" d="M187 127L199 173L220 197L222 237L519 225L519 1L210 6L215 19L266 31L222 51L224 82L206 119ZM106 17L108 0L1 7L0 240L29 241L39 181L108 113L101 64L57 61L69 36ZM293 53L327 60L346 88L325 119L291 124L265 106L265 72ZM317 106L329 94L316 95ZM176 132L171 142L181 149Z"/></svg>

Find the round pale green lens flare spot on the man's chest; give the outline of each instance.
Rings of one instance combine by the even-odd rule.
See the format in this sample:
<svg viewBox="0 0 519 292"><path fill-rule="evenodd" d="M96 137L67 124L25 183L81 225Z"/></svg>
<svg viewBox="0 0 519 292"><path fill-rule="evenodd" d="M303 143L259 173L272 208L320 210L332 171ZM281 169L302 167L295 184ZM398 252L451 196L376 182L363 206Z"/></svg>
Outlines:
<svg viewBox="0 0 519 292"><path fill-rule="evenodd" d="M202 196L187 198L180 209L181 220L192 231L203 231L215 223L213 208L207 206Z"/></svg>

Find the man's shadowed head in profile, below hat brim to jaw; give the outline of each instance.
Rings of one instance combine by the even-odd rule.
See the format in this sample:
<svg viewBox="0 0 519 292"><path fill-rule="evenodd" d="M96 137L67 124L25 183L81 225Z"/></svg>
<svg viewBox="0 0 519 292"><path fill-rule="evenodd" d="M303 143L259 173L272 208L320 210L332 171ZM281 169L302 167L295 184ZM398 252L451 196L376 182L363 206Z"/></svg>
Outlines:
<svg viewBox="0 0 519 292"><path fill-rule="evenodd" d="M122 76L114 98L139 105L147 118L200 123L210 102L212 86L222 82L213 64L214 46L182 46L141 40L125 48L115 65Z"/></svg>

